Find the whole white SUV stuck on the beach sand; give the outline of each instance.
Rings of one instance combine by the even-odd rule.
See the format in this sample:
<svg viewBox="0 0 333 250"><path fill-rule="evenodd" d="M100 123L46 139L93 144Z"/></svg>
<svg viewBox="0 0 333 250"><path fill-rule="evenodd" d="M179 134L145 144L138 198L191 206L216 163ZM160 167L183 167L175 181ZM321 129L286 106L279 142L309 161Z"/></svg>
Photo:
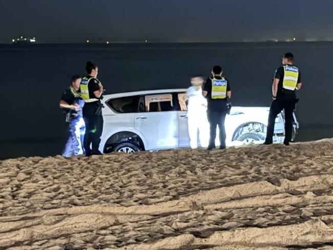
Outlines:
<svg viewBox="0 0 333 250"><path fill-rule="evenodd" d="M100 151L132 153L190 147L186 103L182 98L185 92L186 89L171 89L104 96ZM268 112L267 107L233 107L225 119L226 145L262 143ZM293 140L298 127L294 114ZM276 118L274 134L275 142L283 141L283 113Z"/></svg>

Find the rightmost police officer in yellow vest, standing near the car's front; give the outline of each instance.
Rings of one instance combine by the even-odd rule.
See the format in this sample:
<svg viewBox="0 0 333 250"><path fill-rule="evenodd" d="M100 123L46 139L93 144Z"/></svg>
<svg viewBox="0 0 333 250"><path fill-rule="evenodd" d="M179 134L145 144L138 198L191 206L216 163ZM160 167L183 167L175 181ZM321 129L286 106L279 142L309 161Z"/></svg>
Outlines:
<svg viewBox="0 0 333 250"><path fill-rule="evenodd" d="M273 101L270 104L267 134L264 144L273 143L275 119L282 110L284 110L285 117L285 138L283 143L289 145L289 142L292 140L293 111L297 102L295 90L299 90L302 87L301 73L298 67L293 65L293 60L294 55L292 53L284 54L282 66L275 72L272 88Z"/></svg>

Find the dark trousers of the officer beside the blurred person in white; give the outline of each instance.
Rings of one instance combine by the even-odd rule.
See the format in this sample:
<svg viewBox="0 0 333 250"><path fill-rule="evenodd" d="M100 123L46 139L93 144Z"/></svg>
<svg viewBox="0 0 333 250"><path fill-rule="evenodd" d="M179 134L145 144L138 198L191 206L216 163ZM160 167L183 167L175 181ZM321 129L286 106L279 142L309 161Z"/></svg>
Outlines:
<svg viewBox="0 0 333 250"><path fill-rule="evenodd" d="M225 128L224 120L227 111L213 112L207 111L207 118L210 123L210 140L208 148L215 148L216 128L219 127L220 148L225 148Z"/></svg>

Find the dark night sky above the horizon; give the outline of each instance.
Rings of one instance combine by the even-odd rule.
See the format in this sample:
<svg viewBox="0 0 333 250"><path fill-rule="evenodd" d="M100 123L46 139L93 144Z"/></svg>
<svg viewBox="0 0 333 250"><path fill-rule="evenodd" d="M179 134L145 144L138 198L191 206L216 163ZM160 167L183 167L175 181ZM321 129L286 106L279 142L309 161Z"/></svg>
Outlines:
<svg viewBox="0 0 333 250"><path fill-rule="evenodd" d="M331 0L0 0L0 43L333 40Z"/></svg>

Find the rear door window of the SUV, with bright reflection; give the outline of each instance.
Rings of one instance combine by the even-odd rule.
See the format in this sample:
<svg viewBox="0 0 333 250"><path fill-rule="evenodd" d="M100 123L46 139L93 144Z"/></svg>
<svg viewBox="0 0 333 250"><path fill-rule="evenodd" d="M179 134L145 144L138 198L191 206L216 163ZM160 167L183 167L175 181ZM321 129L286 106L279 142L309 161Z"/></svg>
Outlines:
<svg viewBox="0 0 333 250"><path fill-rule="evenodd" d="M146 95L144 101L147 112L174 110L172 94Z"/></svg>

